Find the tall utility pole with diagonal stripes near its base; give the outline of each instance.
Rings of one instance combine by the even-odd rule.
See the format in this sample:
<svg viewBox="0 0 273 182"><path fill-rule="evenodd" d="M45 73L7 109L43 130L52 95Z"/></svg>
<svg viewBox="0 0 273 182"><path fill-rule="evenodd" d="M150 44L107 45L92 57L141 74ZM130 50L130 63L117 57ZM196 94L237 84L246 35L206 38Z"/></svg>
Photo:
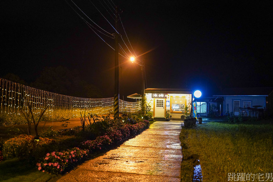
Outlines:
<svg viewBox="0 0 273 182"><path fill-rule="evenodd" d="M114 119L119 117L119 33L118 33L118 7L115 7L115 93L114 93Z"/></svg>

